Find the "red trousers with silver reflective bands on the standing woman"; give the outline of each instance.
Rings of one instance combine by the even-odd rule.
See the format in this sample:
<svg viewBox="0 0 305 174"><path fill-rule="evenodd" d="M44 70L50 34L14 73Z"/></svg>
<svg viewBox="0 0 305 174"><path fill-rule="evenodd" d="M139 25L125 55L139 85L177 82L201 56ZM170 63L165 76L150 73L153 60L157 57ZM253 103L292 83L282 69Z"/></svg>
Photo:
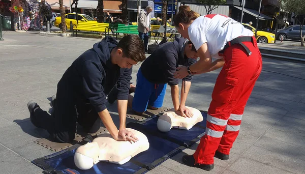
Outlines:
<svg viewBox="0 0 305 174"><path fill-rule="evenodd" d="M243 110L262 70L256 39L243 44L251 50L250 56L240 44L223 53L225 64L212 92L205 135L193 155L198 164L213 164L216 151L229 155L239 133Z"/></svg>

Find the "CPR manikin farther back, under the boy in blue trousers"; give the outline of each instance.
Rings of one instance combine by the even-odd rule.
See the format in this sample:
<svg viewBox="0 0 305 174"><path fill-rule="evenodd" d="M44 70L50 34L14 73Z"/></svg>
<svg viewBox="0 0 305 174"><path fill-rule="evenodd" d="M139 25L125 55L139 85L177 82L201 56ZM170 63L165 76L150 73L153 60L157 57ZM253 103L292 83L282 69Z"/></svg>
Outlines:
<svg viewBox="0 0 305 174"><path fill-rule="evenodd" d="M198 122L203 121L201 112L198 109L187 107L193 113L192 118L185 118L176 114L174 108L166 111L161 115L157 122L157 127L162 132L168 132L171 128L189 130Z"/></svg>

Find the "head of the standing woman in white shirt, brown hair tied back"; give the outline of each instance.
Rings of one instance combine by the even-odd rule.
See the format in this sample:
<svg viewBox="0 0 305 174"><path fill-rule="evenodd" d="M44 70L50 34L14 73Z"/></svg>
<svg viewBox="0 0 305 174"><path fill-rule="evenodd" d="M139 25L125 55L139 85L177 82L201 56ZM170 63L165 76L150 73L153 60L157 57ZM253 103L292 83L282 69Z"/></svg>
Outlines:
<svg viewBox="0 0 305 174"><path fill-rule="evenodd" d="M190 9L190 6L180 6L174 18L174 25L182 37L190 40L188 28L200 15Z"/></svg>

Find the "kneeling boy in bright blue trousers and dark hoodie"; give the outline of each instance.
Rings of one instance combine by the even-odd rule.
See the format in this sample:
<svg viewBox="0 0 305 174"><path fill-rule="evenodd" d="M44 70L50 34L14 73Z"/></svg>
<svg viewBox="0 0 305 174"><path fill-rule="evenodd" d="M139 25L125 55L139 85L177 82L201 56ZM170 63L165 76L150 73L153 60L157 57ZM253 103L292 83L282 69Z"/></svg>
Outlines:
<svg viewBox="0 0 305 174"><path fill-rule="evenodd" d="M145 112L146 108L158 109L163 105L168 83L176 112L184 117L192 117L185 103L193 76L189 72L190 74L183 79L179 102L179 79L174 78L174 73L179 65L189 67L194 64L197 57L193 43L185 38L176 38L174 42L159 46L142 63L137 74L134 98L130 96L128 105L139 115Z"/></svg>

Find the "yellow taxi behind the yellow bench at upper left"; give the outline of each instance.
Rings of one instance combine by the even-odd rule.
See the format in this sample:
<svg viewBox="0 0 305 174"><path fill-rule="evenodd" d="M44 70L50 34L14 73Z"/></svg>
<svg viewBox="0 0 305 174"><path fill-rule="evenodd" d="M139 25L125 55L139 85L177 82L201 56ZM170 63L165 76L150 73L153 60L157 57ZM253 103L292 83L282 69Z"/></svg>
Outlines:
<svg viewBox="0 0 305 174"><path fill-rule="evenodd" d="M70 21L73 23L73 27L77 27L77 18L75 13L68 13L65 15L66 16L66 28L70 29ZM89 15L86 14L77 14L78 17L78 22L90 22L90 23L97 23L97 21L92 18ZM56 17L54 21L54 26L59 27L62 29L63 24L62 24L62 17Z"/></svg>

